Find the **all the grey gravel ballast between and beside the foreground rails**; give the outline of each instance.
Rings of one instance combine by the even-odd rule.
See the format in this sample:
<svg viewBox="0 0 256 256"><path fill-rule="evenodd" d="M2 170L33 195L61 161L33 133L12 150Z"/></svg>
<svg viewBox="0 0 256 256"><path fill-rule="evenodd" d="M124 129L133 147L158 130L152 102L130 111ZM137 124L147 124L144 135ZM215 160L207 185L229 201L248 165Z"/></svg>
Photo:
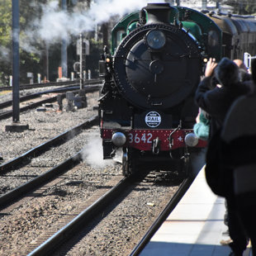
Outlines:
<svg viewBox="0 0 256 256"><path fill-rule="evenodd" d="M0 153L4 161L17 157L97 114L92 108L97 105L97 97L98 92L88 95L90 107L78 111L58 112L58 106L54 105L46 112L34 110L21 113L21 123L28 124L30 129L20 133L5 131L5 126L12 123L12 118L1 121ZM80 149L84 149L82 164L41 188L42 196L32 198L0 215L1 256L29 253L28 249L41 234L55 229L59 220L74 216L82 201L88 200L111 178L121 175L121 164L102 160L99 130L94 126L64 145L45 152L40 158L32 159L29 166L1 175L0 192L7 192L25 183ZM154 178L144 181L104 218L104 222L99 223L86 238L62 255L129 255L176 189L171 185L166 187L156 183Z"/></svg>

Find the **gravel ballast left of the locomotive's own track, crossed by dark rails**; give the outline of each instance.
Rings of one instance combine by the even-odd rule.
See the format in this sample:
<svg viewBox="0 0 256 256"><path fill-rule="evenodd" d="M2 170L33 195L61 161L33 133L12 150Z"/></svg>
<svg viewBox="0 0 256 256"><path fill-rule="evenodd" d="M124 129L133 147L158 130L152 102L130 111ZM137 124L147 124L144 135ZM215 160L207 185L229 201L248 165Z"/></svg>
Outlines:
<svg viewBox="0 0 256 256"><path fill-rule="evenodd" d="M87 97L89 107L86 109L59 112L59 106L54 105L45 112L33 110L21 113L21 124L29 125L29 130L23 132L5 131L5 126L12 124L12 118L1 121L0 153L4 162L97 115L93 106L97 105L98 92L88 93ZM4 193L49 170L81 149L84 154L83 164L46 187L42 197L27 201L12 212L1 214L0 255L20 254L26 244L32 243L56 221L72 214L81 200L90 197L97 187L103 186L112 176L120 174L121 169L120 164L116 166L113 161L108 161L108 165L103 162L99 129L94 126L58 148L41 154L39 158L31 159L26 167L0 176L0 192Z"/></svg>

